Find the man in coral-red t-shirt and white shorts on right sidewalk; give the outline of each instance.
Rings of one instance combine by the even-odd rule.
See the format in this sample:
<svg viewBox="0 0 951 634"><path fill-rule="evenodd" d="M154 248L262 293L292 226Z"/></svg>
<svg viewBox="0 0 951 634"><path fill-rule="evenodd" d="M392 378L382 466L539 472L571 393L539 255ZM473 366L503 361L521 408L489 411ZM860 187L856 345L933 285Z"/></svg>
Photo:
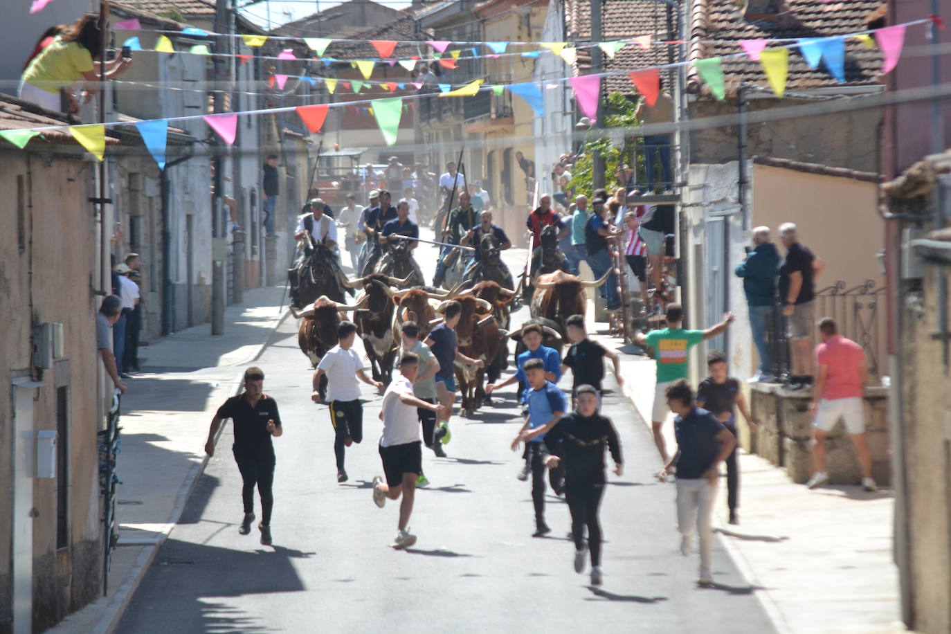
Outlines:
<svg viewBox="0 0 951 634"><path fill-rule="evenodd" d="M815 489L829 481L825 472L825 438L842 418L845 432L855 446L862 486L864 490L878 490L872 479L872 452L865 437L863 386L868 378L865 353L858 343L839 334L839 326L831 317L819 322L819 333L823 342L816 347L816 392L809 404L809 412L815 416L812 423L815 471L806 486Z"/></svg>

